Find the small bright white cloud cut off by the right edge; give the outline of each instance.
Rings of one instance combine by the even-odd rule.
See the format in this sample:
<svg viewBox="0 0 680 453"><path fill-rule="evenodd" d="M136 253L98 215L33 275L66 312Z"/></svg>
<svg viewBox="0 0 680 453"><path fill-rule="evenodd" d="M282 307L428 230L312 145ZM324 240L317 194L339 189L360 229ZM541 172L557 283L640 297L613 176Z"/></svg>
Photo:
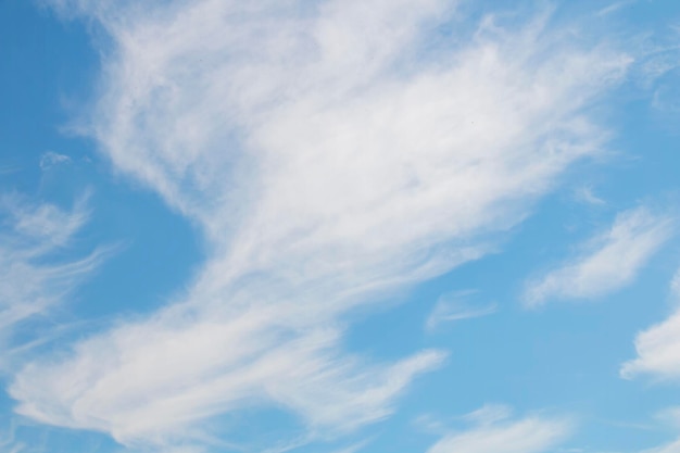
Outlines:
<svg viewBox="0 0 680 453"><path fill-rule="evenodd" d="M680 302L678 276L670 289L672 298ZM676 304L677 305L677 304ZM621 366L624 378L648 375L660 380L680 381L680 310L676 309L667 319L638 334L635 338L638 357Z"/></svg>

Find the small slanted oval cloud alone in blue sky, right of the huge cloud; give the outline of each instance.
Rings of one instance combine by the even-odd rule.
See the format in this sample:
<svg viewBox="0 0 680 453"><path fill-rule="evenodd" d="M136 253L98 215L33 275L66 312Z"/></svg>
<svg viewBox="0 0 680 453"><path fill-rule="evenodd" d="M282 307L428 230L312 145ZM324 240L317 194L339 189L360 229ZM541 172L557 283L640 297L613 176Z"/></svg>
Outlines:
<svg viewBox="0 0 680 453"><path fill-rule="evenodd" d="M576 259L528 284L524 300L594 299L631 284L672 235L673 218L642 206L617 215L614 225L583 247Z"/></svg>

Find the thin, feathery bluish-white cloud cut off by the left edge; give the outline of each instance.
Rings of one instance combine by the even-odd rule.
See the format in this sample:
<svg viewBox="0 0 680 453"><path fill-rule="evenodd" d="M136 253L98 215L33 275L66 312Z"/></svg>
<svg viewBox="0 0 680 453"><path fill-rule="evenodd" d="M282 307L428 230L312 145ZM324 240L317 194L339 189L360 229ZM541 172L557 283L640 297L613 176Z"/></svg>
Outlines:
<svg viewBox="0 0 680 453"><path fill-rule="evenodd" d="M12 361L15 328L45 315L90 274L103 256L96 251L79 260L60 260L88 218L85 201L71 212L52 204L33 204L16 194L0 198L0 337L4 369ZM14 349L9 349L14 348Z"/></svg>

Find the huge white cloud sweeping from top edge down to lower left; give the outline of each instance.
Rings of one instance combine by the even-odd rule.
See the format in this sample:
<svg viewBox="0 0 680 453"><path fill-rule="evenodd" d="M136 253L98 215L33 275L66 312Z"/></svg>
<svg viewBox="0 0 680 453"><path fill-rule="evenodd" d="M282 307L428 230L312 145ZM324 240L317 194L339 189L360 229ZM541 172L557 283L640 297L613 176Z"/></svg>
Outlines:
<svg viewBox="0 0 680 453"><path fill-rule="evenodd" d="M583 110L630 63L544 18L444 42L444 0L54 3L112 38L83 127L214 251L181 302L16 375L22 414L127 443L261 405L314 435L388 415L443 355L349 355L339 315L489 250L597 152Z"/></svg>

